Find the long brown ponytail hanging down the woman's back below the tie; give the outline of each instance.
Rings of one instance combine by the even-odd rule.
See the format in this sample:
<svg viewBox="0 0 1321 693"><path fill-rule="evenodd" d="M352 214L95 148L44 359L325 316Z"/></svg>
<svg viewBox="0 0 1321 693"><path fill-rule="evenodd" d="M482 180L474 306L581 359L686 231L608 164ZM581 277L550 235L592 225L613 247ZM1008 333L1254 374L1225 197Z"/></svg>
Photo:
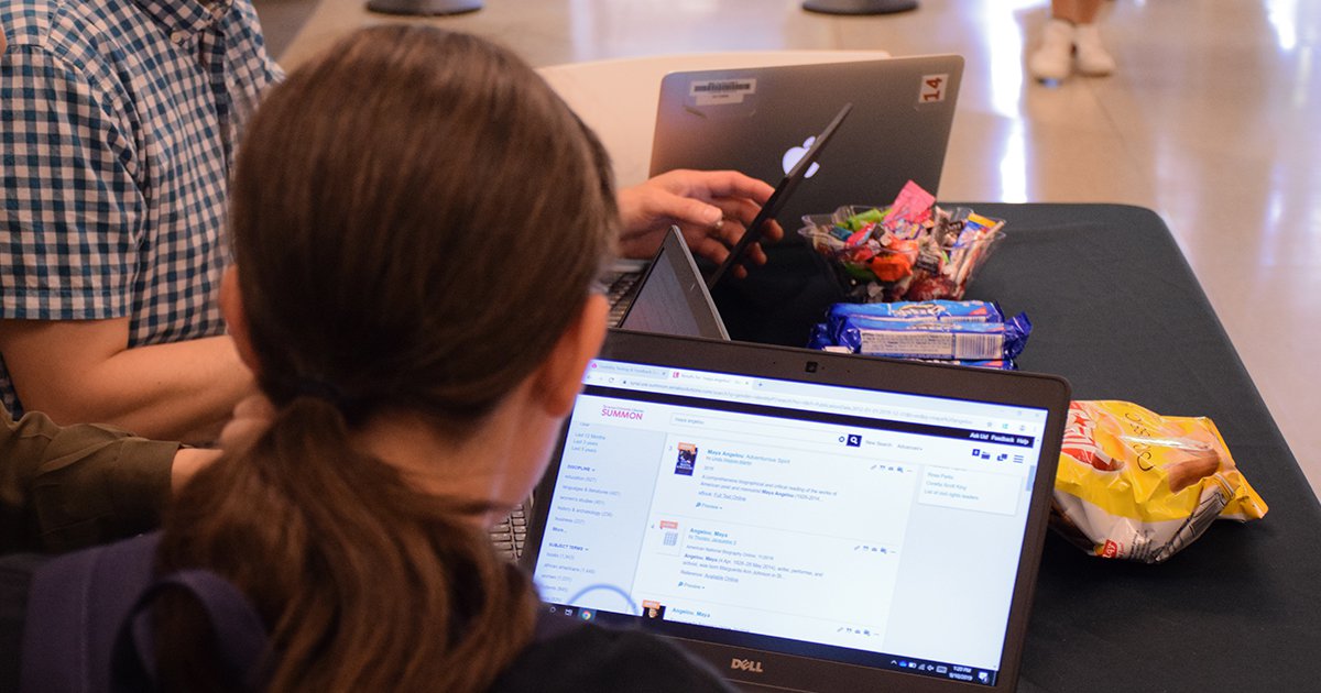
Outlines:
<svg viewBox="0 0 1321 693"><path fill-rule="evenodd" d="M269 619L272 690L482 690L527 642L527 578L457 512L355 453L325 400L295 399L242 459L197 482L160 558L248 594ZM206 660L194 640L161 643L162 663ZM162 673L196 688L188 669Z"/></svg>

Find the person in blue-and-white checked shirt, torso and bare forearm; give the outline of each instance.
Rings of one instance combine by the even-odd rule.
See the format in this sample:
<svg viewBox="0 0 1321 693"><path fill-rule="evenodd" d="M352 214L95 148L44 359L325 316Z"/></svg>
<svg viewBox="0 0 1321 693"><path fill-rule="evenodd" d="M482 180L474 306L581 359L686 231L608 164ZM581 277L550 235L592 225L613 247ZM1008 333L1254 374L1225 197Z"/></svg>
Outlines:
<svg viewBox="0 0 1321 693"><path fill-rule="evenodd" d="M281 78L250 0L4 0L0 399L207 440L252 389L225 335L234 143Z"/></svg>

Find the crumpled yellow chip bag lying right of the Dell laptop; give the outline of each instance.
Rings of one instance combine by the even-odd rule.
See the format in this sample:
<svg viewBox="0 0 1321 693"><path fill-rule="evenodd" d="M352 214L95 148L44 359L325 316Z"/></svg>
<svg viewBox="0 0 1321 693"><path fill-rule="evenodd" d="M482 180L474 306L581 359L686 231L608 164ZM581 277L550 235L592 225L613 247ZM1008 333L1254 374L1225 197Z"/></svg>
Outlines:
<svg viewBox="0 0 1321 693"><path fill-rule="evenodd" d="M1159 564L1217 517L1266 511L1210 418L1127 401L1070 404L1050 525L1083 550Z"/></svg>

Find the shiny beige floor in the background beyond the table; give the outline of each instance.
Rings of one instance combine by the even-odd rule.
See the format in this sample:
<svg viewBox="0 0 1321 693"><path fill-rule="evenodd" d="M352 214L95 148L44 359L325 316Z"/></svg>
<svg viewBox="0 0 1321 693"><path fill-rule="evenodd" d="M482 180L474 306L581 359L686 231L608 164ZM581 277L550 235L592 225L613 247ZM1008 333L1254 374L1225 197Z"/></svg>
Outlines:
<svg viewBox="0 0 1321 693"><path fill-rule="evenodd" d="M306 1L258 7L266 17ZM477 13L425 21L495 38L538 66L720 50L963 54L939 197L1157 210L1321 491L1321 368L1308 348L1321 343L1321 3L1107 3L1103 32L1119 73L1057 87L1022 70L1046 5L922 0L915 12L840 18L797 0L487 0ZM303 8L267 26L291 67L355 26L390 20L362 0Z"/></svg>

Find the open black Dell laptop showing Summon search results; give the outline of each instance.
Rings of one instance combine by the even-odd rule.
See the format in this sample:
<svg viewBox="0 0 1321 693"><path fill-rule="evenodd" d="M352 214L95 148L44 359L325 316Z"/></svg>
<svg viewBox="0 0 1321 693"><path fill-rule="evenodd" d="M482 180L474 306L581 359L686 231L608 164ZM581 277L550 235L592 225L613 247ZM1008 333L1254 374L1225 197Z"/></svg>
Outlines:
<svg viewBox="0 0 1321 693"><path fill-rule="evenodd" d="M523 565L757 690L1013 690L1069 385L613 331Z"/></svg>

